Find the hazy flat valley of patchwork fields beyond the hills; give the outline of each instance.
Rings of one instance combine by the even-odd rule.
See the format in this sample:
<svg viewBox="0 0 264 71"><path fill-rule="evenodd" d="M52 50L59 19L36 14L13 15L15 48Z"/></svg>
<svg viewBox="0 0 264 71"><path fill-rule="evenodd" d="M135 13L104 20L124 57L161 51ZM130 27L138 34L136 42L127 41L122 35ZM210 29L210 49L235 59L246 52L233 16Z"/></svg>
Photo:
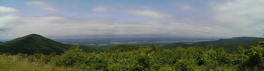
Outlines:
<svg viewBox="0 0 264 71"><path fill-rule="evenodd" d="M65 44L79 44L90 47L98 47L108 50L116 45L135 45L135 46L149 46L149 43L156 42L157 45L167 45L172 43L186 43L193 44L201 41L216 41L219 38L129 38L129 39L54 39L57 42ZM99 45L100 44L100 45ZM104 45L102 45L104 44ZM105 45L107 44L107 45Z"/></svg>

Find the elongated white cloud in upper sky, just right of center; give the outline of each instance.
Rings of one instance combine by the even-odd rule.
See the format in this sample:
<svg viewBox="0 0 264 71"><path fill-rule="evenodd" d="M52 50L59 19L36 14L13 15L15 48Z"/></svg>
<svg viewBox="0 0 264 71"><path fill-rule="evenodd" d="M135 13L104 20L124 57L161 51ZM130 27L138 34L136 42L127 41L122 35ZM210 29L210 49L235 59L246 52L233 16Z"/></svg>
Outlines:
<svg viewBox="0 0 264 71"><path fill-rule="evenodd" d="M163 12L155 12L155 11L150 11L150 10L125 10L125 12L132 13L134 15L139 15L139 16L148 16L151 18L155 19L161 19L161 18L169 18L172 17L171 14L163 13Z"/></svg>

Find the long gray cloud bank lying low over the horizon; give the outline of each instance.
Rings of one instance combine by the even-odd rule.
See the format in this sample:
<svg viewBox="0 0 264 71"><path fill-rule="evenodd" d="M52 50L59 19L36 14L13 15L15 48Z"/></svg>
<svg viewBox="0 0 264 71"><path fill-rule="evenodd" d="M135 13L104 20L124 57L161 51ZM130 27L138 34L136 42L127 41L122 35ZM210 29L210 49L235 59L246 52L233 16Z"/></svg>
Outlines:
<svg viewBox="0 0 264 71"><path fill-rule="evenodd" d="M23 17L24 24L10 30L22 36L37 33L47 38L155 38L221 37L227 28L219 25L189 25L178 22L119 22L114 18L72 18L62 16ZM214 26L214 27L211 27ZM217 28L219 27L219 28Z"/></svg>

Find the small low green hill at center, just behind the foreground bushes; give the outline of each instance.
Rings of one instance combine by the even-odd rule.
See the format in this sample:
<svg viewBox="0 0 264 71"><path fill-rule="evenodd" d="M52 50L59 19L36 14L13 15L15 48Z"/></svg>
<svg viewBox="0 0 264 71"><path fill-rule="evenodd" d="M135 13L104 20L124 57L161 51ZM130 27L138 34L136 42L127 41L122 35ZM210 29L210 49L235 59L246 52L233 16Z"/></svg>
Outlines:
<svg viewBox="0 0 264 71"><path fill-rule="evenodd" d="M117 46L114 46L114 47L110 48L107 51L108 52L131 51L133 49L139 49L139 46L134 46L134 45L117 45Z"/></svg>

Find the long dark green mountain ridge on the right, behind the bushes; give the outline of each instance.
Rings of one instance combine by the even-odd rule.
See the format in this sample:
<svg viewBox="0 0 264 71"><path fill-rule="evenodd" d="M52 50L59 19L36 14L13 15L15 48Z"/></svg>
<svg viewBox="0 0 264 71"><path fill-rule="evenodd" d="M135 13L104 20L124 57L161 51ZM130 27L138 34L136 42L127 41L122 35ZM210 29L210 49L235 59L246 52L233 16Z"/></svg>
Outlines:
<svg viewBox="0 0 264 71"><path fill-rule="evenodd" d="M196 42L191 45L185 43L172 43L168 45L164 45L164 49L173 49L177 46L182 48L189 48L192 46L200 46L200 47L207 47L213 45L214 49L222 48L231 53L236 50L236 47L242 46L245 49L250 49L250 46L257 46L259 41L264 41L264 38L256 38L256 37L234 37L230 39L219 39L217 41L202 41Z"/></svg>

